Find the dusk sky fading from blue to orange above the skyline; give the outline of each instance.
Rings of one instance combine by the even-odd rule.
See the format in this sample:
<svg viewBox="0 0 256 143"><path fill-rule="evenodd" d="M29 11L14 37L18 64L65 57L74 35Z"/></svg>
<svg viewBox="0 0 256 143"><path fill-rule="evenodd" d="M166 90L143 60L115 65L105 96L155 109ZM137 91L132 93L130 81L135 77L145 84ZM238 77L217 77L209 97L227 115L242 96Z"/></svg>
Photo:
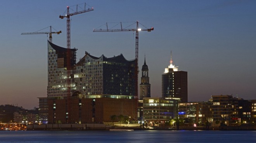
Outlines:
<svg viewBox="0 0 256 143"><path fill-rule="evenodd" d="M151 97L161 97L161 75L173 64L188 72L188 100L211 95L256 99L255 0L4 0L0 1L0 105L38 107L47 97L47 34L21 35L48 26L62 33L52 42L66 47L66 19L87 3L93 11L71 17L71 48L85 55L135 58L135 32L93 32L122 22L140 22L139 70L144 55ZM81 9L78 9L81 10ZM116 22L116 23L115 23ZM120 29L120 25L114 29ZM135 29L136 25L128 28ZM39 32L48 32L48 29ZM141 72L139 73L140 83Z"/></svg>

